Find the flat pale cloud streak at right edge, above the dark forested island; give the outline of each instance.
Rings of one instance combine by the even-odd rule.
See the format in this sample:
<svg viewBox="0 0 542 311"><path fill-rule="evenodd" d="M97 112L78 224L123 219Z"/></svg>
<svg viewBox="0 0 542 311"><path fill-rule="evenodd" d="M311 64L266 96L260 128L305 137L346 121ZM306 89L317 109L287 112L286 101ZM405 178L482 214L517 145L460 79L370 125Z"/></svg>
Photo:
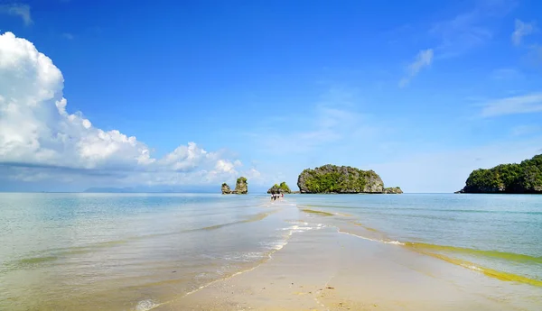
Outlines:
<svg viewBox="0 0 542 311"><path fill-rule="evenodd" d="M511 96L492 100L483 105L481 116L491 117L505 114L528 114L542 112L542 93Z"/></svg>

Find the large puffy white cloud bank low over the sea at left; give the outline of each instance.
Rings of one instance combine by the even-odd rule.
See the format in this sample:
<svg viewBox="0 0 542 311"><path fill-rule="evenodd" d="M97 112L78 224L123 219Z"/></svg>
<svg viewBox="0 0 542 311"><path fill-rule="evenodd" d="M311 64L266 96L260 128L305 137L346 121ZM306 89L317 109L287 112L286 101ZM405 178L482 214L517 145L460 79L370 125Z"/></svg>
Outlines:
<svg viewBox="0 0 542 311"><path fill-rule="evenodd" d="M70 114L62 89L61 70L32 42L11 32L0 35L0 164L13 167L12 178L108 171L126 182L178 185L244 173L239 160L223 159L194 142L156 159L135 136L101 130L82 113Z"/></svg>

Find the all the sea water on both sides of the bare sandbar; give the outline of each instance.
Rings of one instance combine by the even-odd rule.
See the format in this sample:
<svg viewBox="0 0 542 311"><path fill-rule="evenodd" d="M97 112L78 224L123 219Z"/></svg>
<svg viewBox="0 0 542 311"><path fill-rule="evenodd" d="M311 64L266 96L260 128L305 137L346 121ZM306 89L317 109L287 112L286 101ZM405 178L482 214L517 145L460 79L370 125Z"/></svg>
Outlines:
<svg viewBox="0 0 542 311"><path fill-rule="evenodd" d="M542 287L542 196L3 193L0 310L149 310L324 226Z"/></svg>

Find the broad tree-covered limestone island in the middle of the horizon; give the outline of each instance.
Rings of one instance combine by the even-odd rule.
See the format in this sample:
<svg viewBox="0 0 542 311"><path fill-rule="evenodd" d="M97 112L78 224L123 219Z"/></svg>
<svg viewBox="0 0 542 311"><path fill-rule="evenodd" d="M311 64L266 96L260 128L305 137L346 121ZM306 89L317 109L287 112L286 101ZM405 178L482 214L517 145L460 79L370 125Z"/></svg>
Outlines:
<svg viewBox="0 0 542 311"><path fill-rule="evenodd" d="M401 194L401 188L384 188L378 174L370 170L326 164L315 169L304 169L297 178L300 193L374 193Z"/></svg>

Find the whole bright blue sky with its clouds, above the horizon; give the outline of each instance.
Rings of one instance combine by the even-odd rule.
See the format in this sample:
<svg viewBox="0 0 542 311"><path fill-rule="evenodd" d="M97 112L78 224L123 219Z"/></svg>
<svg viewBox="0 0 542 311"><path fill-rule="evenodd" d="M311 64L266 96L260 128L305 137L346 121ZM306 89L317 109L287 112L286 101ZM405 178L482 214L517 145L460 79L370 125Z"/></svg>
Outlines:
<svg viewBox="0 0 542 311"><path fill-rule="evenodd" d="M539 1L0 1L0 191L452 192L538 153Z"/></svg>

